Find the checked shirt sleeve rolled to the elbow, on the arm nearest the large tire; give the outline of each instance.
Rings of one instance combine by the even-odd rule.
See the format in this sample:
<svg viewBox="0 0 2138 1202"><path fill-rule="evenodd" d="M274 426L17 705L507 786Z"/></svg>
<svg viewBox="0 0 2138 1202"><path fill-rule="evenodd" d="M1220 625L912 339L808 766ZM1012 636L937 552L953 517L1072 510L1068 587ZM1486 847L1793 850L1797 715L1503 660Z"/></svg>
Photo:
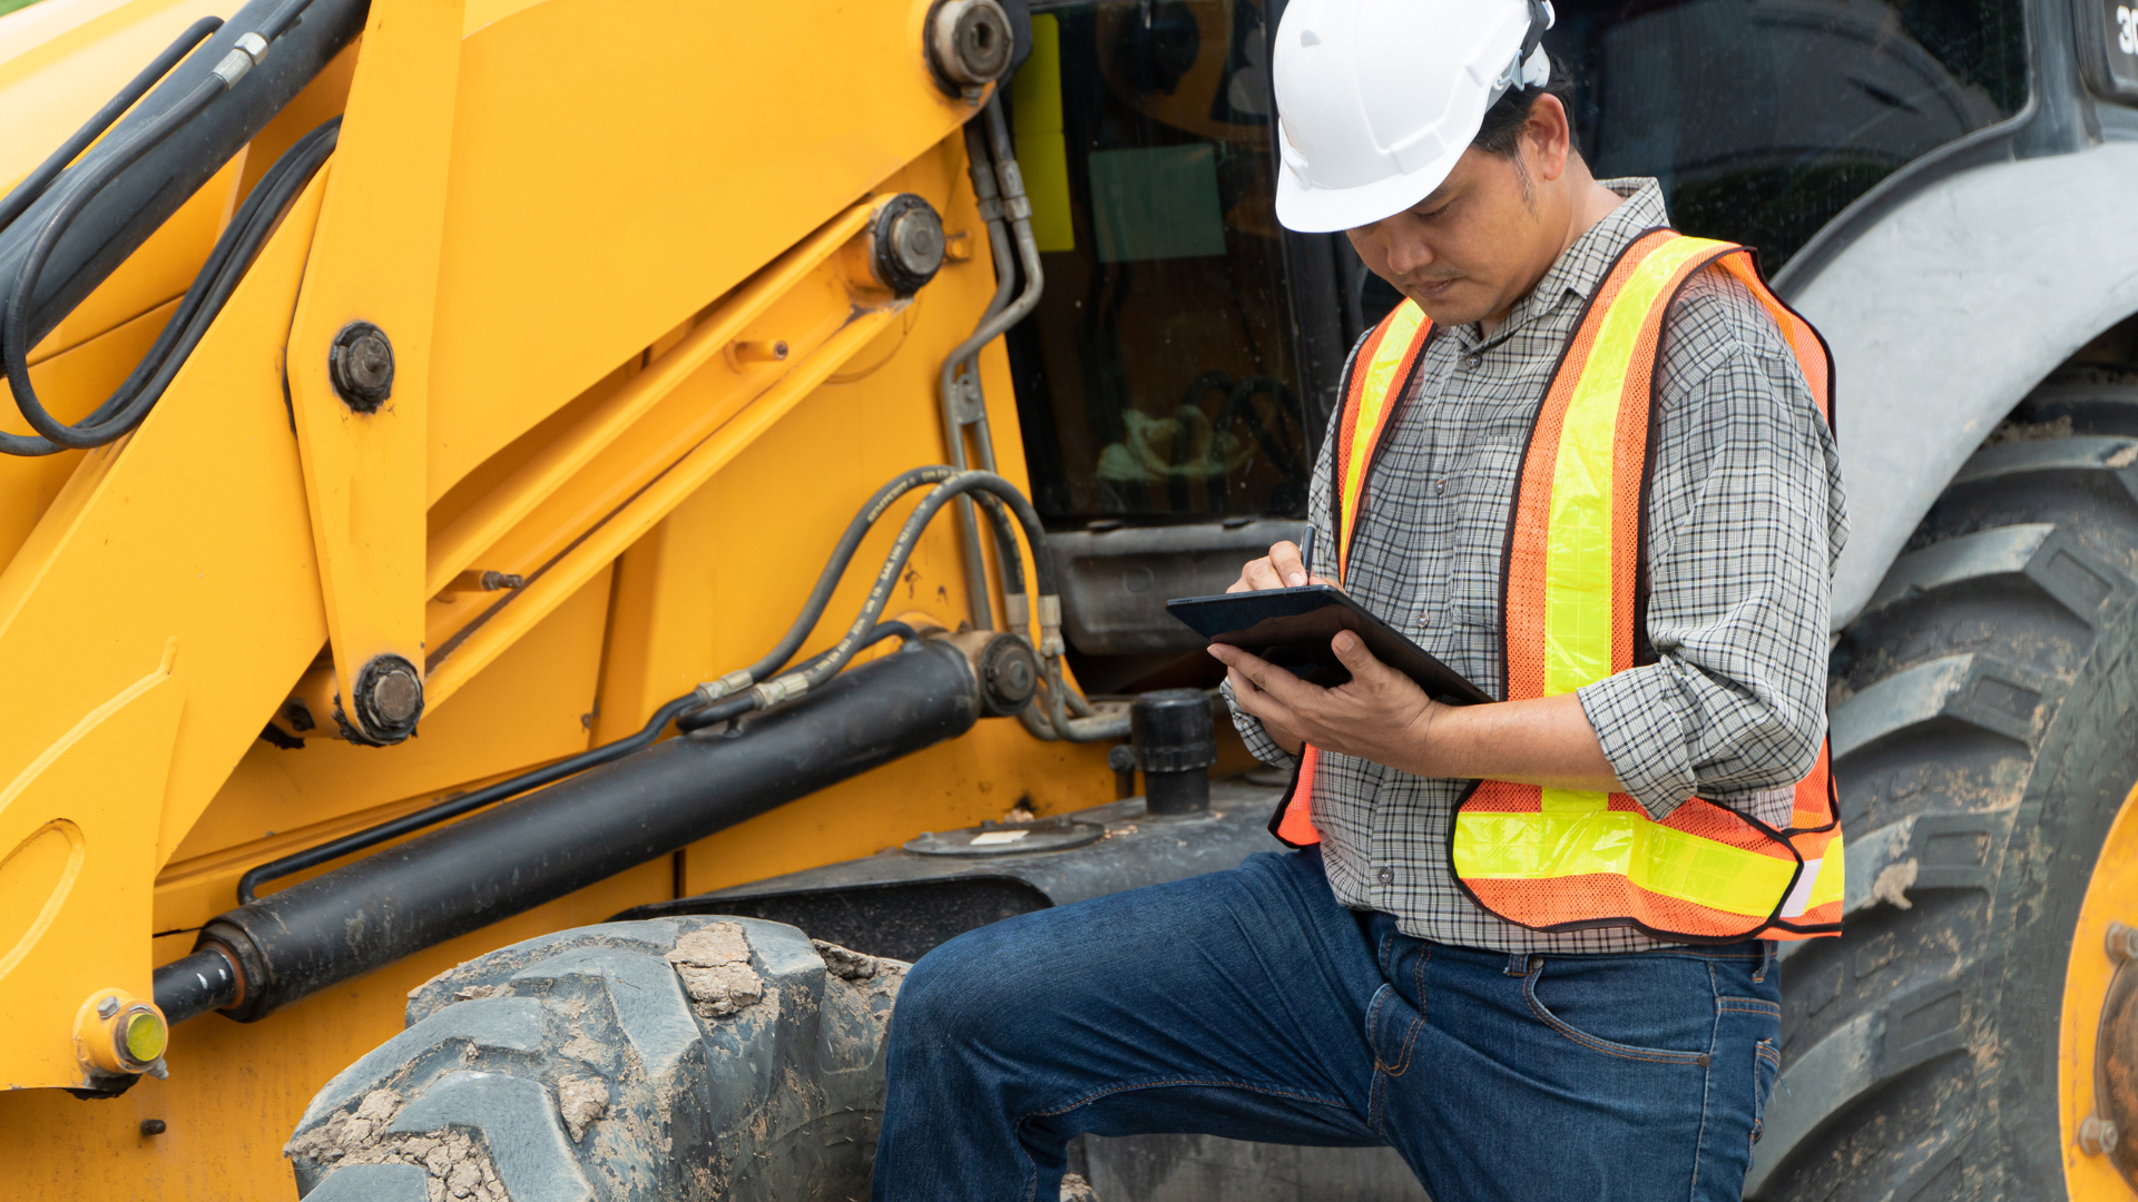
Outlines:
<svg viewBox="0 0 2138 1202"><path fill-rule="evenodd" d="M1770 817L1826 738L1841 464L1794 355L1745 306L1757 302L1715 274L1676 302L1648 494L1655 663L1578 693L1618 783L1657 819L1693 796Z"/></svg>

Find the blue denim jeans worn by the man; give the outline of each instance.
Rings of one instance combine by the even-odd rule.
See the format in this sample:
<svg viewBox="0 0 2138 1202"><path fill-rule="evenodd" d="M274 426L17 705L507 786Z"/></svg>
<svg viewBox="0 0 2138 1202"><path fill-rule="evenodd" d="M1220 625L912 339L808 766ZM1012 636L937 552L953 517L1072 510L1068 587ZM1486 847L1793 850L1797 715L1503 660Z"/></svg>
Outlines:
<svg viewBox="0 0 2138 1202"><path fill-rule="evenodd" d="M1531 956L1336 905L1315 849L924 956L877 1202L1054 1202L1080 1134L1403 1153L1437 1202L1736 1200L1781 1065L1768 943Z"/></svg>

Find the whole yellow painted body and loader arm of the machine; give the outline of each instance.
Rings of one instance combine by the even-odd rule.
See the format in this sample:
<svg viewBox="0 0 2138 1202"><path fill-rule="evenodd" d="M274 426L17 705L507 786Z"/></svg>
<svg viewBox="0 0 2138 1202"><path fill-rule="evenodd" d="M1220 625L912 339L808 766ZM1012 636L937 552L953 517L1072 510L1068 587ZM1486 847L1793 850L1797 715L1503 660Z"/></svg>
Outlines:
<svg viewBox="0 0 2138 1202"><path fill-rule="evenodd" d="M199 15L45 0L0 19L0 186ZM344 113L340 150L148 421L94 451L0 460L15 1193L286 1196L280 1146L306 1099L460 960L1020 802L1112 798L1103 749L981 723L263 1022L180 1027L169 1078L64 1091L88 1084L83 1007L150 997L152 967L192 947L246 868L635 731L778 637L877 483L945 462L936 372L996 282L962 143L977 109L930 79L926 15L376 0L361 41L34 351L51 409L79 419L265 167ZM911 302L855 267L896 192L928 199L949 244ZM355 317L398 351L393 400L361 428L325 379ZM789 353L735 351L753 342ZM1022 486L1001 344L981 376ZM859 560L887 543L879 528ZM455 588L470 571L528 584ZM830 614L864 590L857 571ZM892 612L966 614L951 524L900 592ZM385 650L425 665L419 738L261 738L289 697L331 708Z"/></svg>

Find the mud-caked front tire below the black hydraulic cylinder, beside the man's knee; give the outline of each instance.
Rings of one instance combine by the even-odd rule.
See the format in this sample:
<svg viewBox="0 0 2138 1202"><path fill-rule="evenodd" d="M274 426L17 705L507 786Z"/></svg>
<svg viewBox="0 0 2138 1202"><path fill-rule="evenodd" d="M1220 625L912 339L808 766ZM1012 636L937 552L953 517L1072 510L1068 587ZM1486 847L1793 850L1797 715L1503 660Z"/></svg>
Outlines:
<svg viewBox="0 0 2138 1202"><path fill-rule="evenodd" d="M776 922L611 922L408 995L312 1099L312 1202L864 1198L907 965Z"/></svg>

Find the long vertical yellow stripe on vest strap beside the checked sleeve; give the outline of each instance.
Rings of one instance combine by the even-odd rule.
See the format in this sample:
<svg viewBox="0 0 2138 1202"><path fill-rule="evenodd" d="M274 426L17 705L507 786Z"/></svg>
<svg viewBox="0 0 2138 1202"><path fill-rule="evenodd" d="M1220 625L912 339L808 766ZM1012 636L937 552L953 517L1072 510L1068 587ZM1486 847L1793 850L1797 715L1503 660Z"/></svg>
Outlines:
<svg viewBox="0 0 2138 1202"><path fill-rule="evenodd" d="M1601 317L1582 376L1574 383L1552 471L1544 569L1544 695L1571 693L1612 672L1612 483L1618 398L1640 327L1672 276L1723 244L1674 237L1651 252ZM1638 505L1638 498L1627 498ZM1627 548L1631 550L1631 548Z"/></svg>

